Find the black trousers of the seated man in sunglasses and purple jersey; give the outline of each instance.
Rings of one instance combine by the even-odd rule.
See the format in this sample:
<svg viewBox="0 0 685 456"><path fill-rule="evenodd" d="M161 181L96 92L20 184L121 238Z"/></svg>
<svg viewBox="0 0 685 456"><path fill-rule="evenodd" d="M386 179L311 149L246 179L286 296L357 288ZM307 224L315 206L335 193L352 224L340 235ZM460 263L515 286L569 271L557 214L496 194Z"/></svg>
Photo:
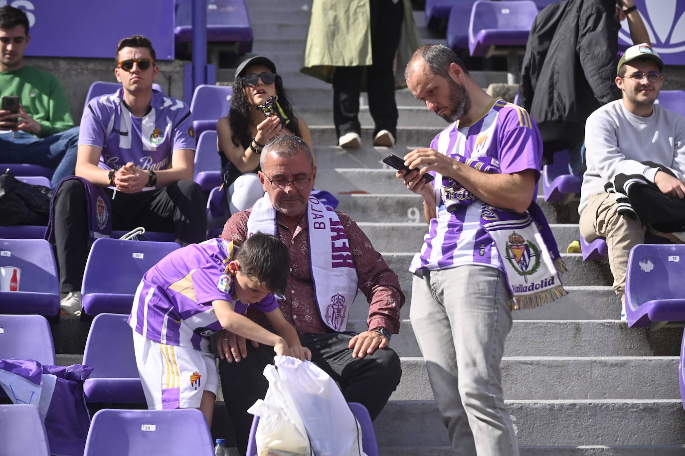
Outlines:
<svg viewBox="0 0 685 456"><path fill-rule="evenodd" d="M185 246L207 238L205 196L197 183L177 181L169 187L127 194L105 188L112 203L112 229L175 233L176 242ZM88 239L86 187L71 179L58 188L55 203L55 250L60 268L60 291L81 290Z"/></svg>

